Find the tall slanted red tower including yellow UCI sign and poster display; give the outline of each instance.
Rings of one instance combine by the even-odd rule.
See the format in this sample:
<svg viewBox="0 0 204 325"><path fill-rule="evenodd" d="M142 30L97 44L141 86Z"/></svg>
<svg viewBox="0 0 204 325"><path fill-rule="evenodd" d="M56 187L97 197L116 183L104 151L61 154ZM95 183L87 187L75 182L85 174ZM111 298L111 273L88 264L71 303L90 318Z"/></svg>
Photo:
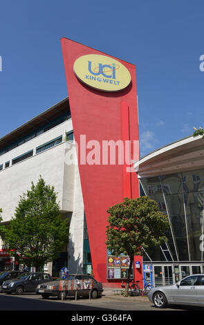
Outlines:
<svg viewBox="0 0 204 325"><path fill-rule="evenodd" d="M123 267L120 258L107 266L106 211L139 196L136 66L70 39L61 42L93 275L106 282L119 278L119 264L121 278Z"/></svg>

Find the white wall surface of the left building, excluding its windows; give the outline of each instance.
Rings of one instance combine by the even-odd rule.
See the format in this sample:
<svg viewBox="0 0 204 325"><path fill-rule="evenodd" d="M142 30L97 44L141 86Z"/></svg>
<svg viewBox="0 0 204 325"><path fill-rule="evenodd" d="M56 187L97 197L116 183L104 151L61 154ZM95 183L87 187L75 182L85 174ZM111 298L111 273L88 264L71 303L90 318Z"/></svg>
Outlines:
<svg viewBox="0 0 204 325"><path fill-rule="evenodd" d="M70 219L68 268L70 272L82 272L84 203L78 166L75 164L75 145L64 141L66 132L71 130L72 122L68 120L0 156L0 165L10 160L10 167L0 171L0 207L3 210L3 222L10 221L15 214L15 207L18 205L19 197L30 189L32 181L36 184L41 175L47 184L55 187L60 210L62 214L69 216ZM62 136L62 143L36 154L36 147L44 145L44 143L58 136ZM32 149L34 156L11 165L13 158ZM66 154L69 149L73 150L72 165L66 161ZM48 270L50 270L50 265Z"/></svg>

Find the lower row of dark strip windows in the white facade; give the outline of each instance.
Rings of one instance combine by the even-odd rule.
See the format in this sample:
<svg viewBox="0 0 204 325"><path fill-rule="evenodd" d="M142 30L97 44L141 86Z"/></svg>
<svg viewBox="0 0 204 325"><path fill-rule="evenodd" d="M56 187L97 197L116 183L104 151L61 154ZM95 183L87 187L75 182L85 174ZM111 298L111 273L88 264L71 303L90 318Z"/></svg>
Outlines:
<svg viewBox="0 0 204 325"><path fill-rule="evenodd" d="M73 141L73 131L66 133L66 140L68 141ZM62 142L62 136L59 136L58 138L51 140L49 142L44 143L44 145L41 145L36 148L36 154L39 154L40 152L49 149L51 147L54 147L55 145L58 145L59 143ZM33 150L30 150L26 152L25 154L22 154L21 156L18 156L14 159L12 159L12 165L15 165L19 163L22 160L25 160L29 157L33 156ZM7 161L5 163L5 168L8 168L10 166L10 161ZM3 164L0 165L0 171L3 169Z"/></svg>

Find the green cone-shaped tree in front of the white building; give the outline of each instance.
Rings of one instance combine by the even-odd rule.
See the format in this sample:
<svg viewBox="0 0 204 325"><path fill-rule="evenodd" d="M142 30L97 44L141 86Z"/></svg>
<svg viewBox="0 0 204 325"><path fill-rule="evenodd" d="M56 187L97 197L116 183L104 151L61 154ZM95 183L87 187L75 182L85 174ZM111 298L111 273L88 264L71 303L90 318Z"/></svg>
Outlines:
<svg viewBox="0 0 204 325"><path fill-rule="evenodd" d="M10 255L36 270L53 261L68 241L68 220L62 219L54 187L39 178L20 196L10 227L4 228Z"/></svg>

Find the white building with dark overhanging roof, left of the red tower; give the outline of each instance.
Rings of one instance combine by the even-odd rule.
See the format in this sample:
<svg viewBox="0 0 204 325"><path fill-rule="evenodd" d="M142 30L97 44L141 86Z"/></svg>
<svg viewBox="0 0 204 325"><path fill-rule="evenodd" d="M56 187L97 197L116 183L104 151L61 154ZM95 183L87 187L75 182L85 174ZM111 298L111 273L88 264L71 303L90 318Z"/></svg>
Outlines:
<svg viewBox="0 0 204 325"><path fill-rule="evenodd" d="M37 183L39 176L55 187L60 212L70 221L62 257L44 266L53 276L59 275L62 266L68 266L69 272L83 270L84 203L77 163L66 161L69 150L73 162L77 161L68 98L0 139L3 223L9 223L20 196L30 189L32 181ZM4 248L0 239L0 271L12 267Z"/></svg>

